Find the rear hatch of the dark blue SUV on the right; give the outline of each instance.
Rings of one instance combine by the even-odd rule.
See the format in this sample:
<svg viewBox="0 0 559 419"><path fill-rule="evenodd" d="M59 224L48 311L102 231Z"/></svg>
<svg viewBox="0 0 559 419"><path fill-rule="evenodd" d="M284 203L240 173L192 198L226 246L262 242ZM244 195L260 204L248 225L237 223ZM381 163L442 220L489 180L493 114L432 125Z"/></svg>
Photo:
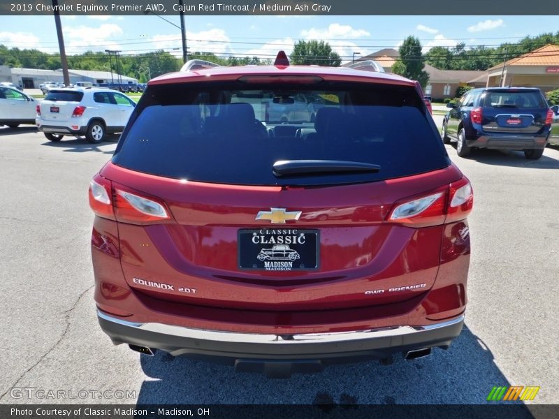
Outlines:
<svg viewBox="0 0 559 419"><path fill-rule="evenodd" d="M488 133L535 134L544 128L548 107L539 89L492 89L481 101Z"/></svg>

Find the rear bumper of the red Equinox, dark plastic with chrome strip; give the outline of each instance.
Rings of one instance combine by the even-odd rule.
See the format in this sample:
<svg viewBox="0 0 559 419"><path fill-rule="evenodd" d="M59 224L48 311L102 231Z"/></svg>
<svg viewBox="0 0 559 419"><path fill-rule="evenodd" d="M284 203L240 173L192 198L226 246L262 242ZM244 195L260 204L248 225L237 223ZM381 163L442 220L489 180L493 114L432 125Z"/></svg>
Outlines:
<svg viewBox="0 0 559 419"><path fill-rule="evenodd" d="M133 323L108 316L102 311L98 311L97 315L101 329L113 344L146 346L172 355L209 358L230 364L248 360L335 363L387 358L396 352L447 347L460 335L464 323L462 314L450 321L426 326L400 325L354 332L271 335L201 330L162 323Z"/></svg>

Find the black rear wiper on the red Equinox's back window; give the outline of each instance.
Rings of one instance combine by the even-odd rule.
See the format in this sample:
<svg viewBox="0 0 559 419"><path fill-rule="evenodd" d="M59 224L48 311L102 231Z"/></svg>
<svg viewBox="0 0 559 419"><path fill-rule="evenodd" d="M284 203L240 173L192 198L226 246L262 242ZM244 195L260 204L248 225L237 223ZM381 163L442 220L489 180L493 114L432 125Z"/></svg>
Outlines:
<svg viewBox="0 0 559 419"><path fill-rule="evenodd" d="M276 177L321 173L377 173L379 170L380 166L377 164L342 160L279 160L273 166Z"/></svg>

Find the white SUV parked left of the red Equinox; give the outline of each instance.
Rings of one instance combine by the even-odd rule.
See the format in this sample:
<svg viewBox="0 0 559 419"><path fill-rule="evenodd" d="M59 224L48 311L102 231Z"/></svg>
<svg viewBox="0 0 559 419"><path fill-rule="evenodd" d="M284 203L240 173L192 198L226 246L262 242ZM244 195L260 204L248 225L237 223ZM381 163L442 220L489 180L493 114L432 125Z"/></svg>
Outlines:
<svg viewBox="0 0 559 419"><path fill-rule="evenodd" d="M120 133L136 106L115 90L52 89L37 105L35 122L51 141L64 135L85 135L89 142L101 142L106 134Z"/></svg>

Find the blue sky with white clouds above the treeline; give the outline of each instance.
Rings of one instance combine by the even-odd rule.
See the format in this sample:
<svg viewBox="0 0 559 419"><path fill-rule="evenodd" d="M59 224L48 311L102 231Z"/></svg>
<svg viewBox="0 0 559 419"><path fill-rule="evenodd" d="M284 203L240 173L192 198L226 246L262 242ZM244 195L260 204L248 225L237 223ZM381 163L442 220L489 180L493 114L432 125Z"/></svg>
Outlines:
<svg viewBox="0 0 559 419"><path fill-rule="evenodd" d="M180 25L178 16L165 19ZM0 43L57 52L52 16L1 16ZM190 51L275 56L288 54L298 39L328 41L344 61L383 47L398 47L408 35L424 47L498 45L559 30L558 16L187 16ZM180 31L156 15L62 16L66 52L122 50L122 54L163 49L180 56Z"/></svg>

